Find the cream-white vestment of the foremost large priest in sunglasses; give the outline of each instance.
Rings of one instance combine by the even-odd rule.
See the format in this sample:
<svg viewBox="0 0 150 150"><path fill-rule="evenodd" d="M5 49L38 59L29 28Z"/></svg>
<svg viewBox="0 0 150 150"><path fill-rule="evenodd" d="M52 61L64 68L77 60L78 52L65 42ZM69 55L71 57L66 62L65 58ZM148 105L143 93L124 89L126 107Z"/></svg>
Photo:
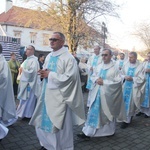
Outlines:
<svg viewBox="0 0 150 150"><path fill-rule="evenodd" d="M51 62L52 59L57 62ZM50 70L48 78L44 79L47 84L43 83L42 87L45 93L41 94L29 124L36 127L41 145L48 150L73 150L72 125L83 124L85 120L77 63L67 49L61 48L46 57L43 69ZM46 119L52 124L48 131L49 126L42 127L44 106Z"/></svg>

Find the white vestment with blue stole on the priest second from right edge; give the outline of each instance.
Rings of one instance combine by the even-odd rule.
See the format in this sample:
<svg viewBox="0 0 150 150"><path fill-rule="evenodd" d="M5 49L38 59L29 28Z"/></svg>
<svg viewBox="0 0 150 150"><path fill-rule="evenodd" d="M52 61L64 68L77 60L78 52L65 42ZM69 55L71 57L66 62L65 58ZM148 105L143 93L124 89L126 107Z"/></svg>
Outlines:
<svg viewBox="0 0 150 150"><path fill-rule="evenodd" d="M136 61L135 64L127 62L121 70L121 76L123 81L125 80L126 76L132 76L133 78L133 81L125 80L123 84L123 94L124 101L126 103L127 115L125 122L130 123L131 117L134 116L140 110L141 98L143 95L142 93L144 93L144 74L142 64L140 64L139 61ZM129 84L132 82L133 85L131 87L126 87L127 82ZM128 90L129 88L130 90Z"/></svg>

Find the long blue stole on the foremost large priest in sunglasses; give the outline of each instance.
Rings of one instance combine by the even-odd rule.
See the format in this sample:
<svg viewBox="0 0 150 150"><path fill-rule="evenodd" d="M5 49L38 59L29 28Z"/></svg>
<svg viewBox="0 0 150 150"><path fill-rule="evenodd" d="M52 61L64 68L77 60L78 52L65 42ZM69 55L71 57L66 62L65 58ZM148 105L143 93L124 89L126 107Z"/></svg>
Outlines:
<svg viewBox="0 0 150 150"><path fill-rule="evenodd" d="M50 70L51 72L57 72L57 61L58 61L58 56L50 56L50 60L48 62L48 67L47 69ZM41 129L44 130L45 132L52 132L53 129L53 124L47 115L46 112L46 106L45 106L45 91L48 83L48 79L44 78L43 79L43 87L42 87L42 122L41 122Z"/></svg>

